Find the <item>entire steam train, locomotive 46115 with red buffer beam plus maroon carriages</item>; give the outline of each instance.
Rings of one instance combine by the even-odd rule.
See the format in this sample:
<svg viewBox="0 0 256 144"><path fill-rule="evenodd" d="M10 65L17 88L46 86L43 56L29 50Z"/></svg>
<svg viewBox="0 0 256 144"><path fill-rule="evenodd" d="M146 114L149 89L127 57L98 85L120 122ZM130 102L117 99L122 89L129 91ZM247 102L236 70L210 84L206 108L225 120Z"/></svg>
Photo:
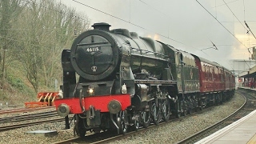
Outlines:
<svg viewBox="0 0 256 144"><path fill-rule="evenodd" d="M234 94L234 74L216 62L139 37L126 29L94 23L62 51L60 116L74 114L74 130L126 134L150 123L190 114Z"/></svg>

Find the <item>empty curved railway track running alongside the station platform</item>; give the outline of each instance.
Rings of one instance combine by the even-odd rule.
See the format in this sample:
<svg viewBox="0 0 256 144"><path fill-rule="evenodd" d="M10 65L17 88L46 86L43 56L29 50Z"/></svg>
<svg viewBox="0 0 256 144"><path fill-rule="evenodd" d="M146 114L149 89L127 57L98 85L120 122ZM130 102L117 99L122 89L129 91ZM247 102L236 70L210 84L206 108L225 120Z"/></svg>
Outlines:
<svg viewBox="0 0 256 144"><path fill-rule="evenodd" d="M244 104L236 110L234 113L230 114L226 118L222 119L219 122L216 122L213 126L209 126L204 130L199 131L198 133L191 135L188 138L183 139L182 141L178 142L178 144L183 143L194 143L198 142L202 138L207 137L214 132L221 130L225 126L230 125L231 123L237 121L239 118L250 114L251 111L256 109L256 98L247 92L243 92L242 90L237 90L238 94L241 94L245 98Z"/></svg>

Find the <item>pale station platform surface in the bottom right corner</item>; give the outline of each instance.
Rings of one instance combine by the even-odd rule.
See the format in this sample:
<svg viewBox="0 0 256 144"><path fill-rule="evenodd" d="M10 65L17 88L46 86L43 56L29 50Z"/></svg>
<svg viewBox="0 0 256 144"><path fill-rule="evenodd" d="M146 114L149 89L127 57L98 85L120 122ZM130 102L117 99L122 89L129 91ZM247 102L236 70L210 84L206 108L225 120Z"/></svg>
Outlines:
<svg viewBox="0 0 256 144"><path fill-rule="evenodd" d="M256 110L196 144L256 144Z"/></svg>

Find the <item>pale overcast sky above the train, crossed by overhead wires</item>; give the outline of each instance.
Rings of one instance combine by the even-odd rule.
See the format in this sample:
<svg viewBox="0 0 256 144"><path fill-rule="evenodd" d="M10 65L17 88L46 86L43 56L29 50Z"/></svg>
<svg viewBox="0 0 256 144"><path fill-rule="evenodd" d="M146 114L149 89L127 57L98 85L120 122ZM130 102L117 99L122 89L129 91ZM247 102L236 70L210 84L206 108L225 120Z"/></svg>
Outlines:
<svg viewBox="0 0 256 144"><path fill-rule="evenodd" d="M110 29L137 32L228 69L232 69L230 59L249 60L248 48L252 52L251 47L256 46L253 34L246 34L248 28L244 22L255 35L255 0L59 1L86 14L91 25L107 22ZM218 50L213 48L212 42Z"/></svg>

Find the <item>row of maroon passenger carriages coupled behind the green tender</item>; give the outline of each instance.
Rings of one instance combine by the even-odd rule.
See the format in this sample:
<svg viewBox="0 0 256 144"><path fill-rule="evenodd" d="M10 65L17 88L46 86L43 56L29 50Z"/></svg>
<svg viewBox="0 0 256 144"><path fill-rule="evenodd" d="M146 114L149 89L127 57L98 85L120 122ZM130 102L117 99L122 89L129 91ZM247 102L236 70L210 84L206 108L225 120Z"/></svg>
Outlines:
<svg viewBox="0 0 256 144"><path fill-rule="evenodd" d="M210 62L196 55L194 58L199 68L202 105L214 105L229 98L230 93L234 91L233 88L230 89L230 79L232 75L234 79L234 74L216 62Z"/></svg>

